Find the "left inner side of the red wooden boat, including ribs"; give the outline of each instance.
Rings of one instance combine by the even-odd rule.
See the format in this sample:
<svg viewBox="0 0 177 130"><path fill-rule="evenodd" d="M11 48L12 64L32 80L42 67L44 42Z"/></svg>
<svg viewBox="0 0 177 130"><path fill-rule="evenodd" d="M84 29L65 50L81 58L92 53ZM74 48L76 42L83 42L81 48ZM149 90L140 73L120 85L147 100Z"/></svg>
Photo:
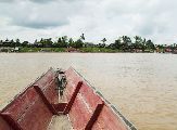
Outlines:
<svg viewBox="0 0 177 130"><path fill-rule="evenodd" d="M55 87L51 68L2 109L0 130L46 130L53 116L50 107L59 103Z"/></svg>

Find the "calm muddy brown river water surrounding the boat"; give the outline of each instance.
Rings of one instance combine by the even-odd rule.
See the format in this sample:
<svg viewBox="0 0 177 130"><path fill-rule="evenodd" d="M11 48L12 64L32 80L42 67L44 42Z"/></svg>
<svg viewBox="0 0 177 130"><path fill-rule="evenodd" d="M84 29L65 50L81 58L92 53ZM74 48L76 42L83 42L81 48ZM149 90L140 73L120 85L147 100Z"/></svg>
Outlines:
<svg viewBox="0 0 177 130"><path fill-rule="evenodd" d="M73 66L139 130L177 130L177 55L0 53L0 108L51 66Z"/></svg>

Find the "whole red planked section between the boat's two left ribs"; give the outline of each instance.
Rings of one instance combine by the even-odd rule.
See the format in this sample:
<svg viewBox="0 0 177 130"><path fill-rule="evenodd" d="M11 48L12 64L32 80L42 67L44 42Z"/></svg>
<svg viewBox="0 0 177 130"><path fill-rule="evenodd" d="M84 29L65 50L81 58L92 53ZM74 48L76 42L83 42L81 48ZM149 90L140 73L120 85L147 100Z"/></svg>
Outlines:
<svg viewBox="0 0 177 130"><path fill-rule="evenodd" d="M16 99L17 100L13 102L9 108L4 109L3 113L9 114L10 116L5 117L10 121L14 120L25 130L31 130L31 128L34 130L47 129L53 114L45 104L42 96L38 94L35 88L27 89L22 96ZM12 128L14 128L14 125Z"/></svg>

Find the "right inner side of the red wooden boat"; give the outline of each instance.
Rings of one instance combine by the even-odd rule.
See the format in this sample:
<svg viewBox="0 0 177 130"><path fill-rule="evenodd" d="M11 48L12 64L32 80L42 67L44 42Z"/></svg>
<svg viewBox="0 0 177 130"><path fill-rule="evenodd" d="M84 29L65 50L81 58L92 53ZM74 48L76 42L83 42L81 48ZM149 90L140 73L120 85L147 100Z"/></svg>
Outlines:
<svg viewBox="0 0 177 130"><path fill-rule="evenodd" d="M67 79L66 99L69 102L77 83L83 86L68 113L76 130L127 130L126 123L111 109L109 104L73 68L65 73ZM102 106L101 106L102 104ZM98 106L101 106L100 109ZM90 127L91 126L91 127Z"/></svg>

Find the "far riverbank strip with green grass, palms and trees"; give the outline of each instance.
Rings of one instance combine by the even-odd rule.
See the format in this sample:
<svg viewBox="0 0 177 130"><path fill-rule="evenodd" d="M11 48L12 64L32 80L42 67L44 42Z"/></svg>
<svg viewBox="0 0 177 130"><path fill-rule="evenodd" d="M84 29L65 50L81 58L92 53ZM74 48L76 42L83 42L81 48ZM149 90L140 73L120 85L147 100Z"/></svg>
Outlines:
<svg viewBox="0 0 177 130"><path fill-rule="evenodd" d="M140 36L135 36L134 39L128 36L122 36L110 44L103 38L100 43L94 44L85 42L85 35L81 34L75 41L67 36L59 37L55 41L52 38L41 38L33 43L28 41L21 42L20 39L0 40L0 52L177 53L177 44L154 44L152 40L147 40Z"/></svg>

